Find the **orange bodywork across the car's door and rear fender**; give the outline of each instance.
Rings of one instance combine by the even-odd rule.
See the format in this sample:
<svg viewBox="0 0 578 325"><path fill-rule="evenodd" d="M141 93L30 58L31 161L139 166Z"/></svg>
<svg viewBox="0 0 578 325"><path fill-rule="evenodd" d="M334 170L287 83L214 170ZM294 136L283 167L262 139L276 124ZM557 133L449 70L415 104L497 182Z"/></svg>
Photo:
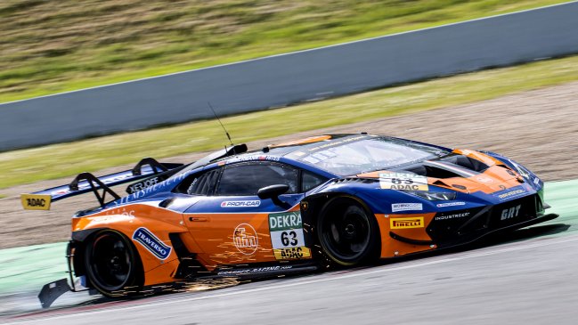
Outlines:
<svg viewBox="0 0 578 325"><path fill-rule="evenodd" d="M299 211L299 206L290 211ZM213 271L217 265L278 261L273 254L268 217L268 213L182 215L161 207L133 204L73 218L72 231L105 228L123 233L134 243L141 257L144 284L148 286L175 280L179 261L169 233L178 233L184 246L197 254L197 259L208 271ZM141 227L171 247L165 260L132 239Z"/></svg>

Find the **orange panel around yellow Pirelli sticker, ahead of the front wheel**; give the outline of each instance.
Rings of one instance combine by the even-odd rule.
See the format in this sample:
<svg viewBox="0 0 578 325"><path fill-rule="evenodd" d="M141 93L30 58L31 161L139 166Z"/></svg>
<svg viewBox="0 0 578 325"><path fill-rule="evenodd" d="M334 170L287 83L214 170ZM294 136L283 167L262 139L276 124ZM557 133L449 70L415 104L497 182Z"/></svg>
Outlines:
<svg viewBox="0 0 578 325"><path fill-rule="evenodd" d="M379 224L379 232L381 234L381 257L395 257L403 256L410 253L423 252L426 250L431 250L434 248L429 247L429 245L413 245L404 243L399 240L394 240L389 232L394 232L395 234L402 236L410 240L432 240L429 235L427 235L426 228L429 223L433 220L435 213L429 214L407 214L407 215L375 215ZM406 223L411 220L420 220L423 218L423 223L416 225L413 223ZM401 221L403 225L399 225L398 229L392 229L392 223Z"/></svg>

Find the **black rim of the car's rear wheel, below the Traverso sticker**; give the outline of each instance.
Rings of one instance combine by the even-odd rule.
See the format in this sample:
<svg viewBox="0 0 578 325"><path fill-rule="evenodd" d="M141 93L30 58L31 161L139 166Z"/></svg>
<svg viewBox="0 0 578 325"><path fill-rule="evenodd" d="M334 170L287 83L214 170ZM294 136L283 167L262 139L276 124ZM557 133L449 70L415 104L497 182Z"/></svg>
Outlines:
<svg viewBox="0 0 578 325"><path fill-rule="evenodd" d="M92 244L89 267L96 286L109 292L124 288L133 269L126 241L114 233L98 236Z"/></svg>

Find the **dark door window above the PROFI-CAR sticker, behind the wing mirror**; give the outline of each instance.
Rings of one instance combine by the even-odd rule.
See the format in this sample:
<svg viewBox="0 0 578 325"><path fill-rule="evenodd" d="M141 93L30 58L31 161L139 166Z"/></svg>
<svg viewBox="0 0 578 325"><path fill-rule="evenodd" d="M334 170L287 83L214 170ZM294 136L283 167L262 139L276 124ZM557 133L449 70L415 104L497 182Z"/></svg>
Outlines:
<svg viewBox="0 0 578 325"><path fill-rule="evenodd" d="M225 167L216 195L256 195L259 189L273 184L287 184L287 193L296 193L298 175L297 169L281 164Z"/></svg>

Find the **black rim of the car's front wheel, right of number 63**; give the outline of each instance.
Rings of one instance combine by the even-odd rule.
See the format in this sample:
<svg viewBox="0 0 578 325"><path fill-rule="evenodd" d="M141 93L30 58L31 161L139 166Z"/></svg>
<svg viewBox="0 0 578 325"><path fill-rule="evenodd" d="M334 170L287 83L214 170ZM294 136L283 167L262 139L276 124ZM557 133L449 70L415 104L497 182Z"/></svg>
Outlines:
<svg viewBox="0 0 578 325"><path fill-rule="evenodd" d="M370 246L370 219L361 207L331 208L322 216L322 245L341 262L358 261Z"/></svg>

